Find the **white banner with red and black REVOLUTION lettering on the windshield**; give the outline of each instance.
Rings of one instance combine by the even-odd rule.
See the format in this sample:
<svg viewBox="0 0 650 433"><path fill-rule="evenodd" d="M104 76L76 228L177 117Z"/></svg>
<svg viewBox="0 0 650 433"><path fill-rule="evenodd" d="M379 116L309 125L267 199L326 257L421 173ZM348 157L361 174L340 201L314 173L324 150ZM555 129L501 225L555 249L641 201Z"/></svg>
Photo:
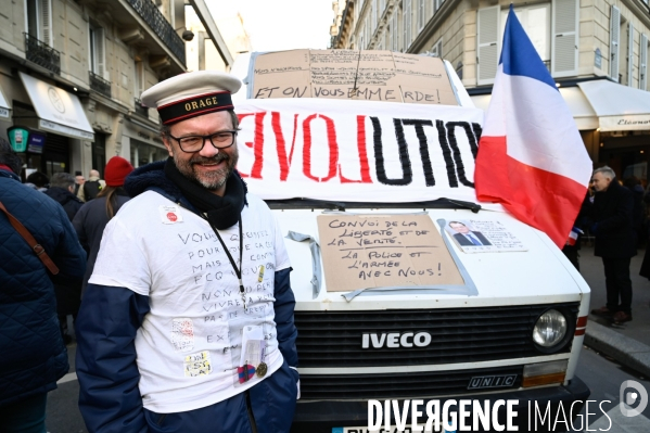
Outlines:
<svg viewBox="0 0 650 433"><path fill-rule="evenodd" d="M263 199L476 202L481 110L257 99L239 102L235 112L238 168Z"/></svg>

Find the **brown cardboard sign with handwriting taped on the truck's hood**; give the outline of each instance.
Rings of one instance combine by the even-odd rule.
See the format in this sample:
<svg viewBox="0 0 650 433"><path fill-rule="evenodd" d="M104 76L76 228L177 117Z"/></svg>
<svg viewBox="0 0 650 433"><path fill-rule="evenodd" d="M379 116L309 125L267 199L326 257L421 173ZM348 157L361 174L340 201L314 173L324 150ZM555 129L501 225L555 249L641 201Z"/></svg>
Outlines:
<svg viewBox="0 0 650 433"><path fill-rule="evenodd" d="M319 215L328 292L464 284L428 215Z"/></svg>

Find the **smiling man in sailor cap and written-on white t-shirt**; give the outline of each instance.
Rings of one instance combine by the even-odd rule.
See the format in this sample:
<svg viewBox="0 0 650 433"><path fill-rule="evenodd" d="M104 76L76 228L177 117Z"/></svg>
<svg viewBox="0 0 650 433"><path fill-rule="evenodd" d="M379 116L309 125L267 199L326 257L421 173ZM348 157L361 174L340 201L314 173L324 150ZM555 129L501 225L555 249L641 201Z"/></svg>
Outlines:
<svg viewBox="0 0 650 433"><path fill-rule="evenodd" d="M241 81L142 93L169 152L130 175L77 318L90 432L289 432L299 394L282 233L234 169Z"/></svg>

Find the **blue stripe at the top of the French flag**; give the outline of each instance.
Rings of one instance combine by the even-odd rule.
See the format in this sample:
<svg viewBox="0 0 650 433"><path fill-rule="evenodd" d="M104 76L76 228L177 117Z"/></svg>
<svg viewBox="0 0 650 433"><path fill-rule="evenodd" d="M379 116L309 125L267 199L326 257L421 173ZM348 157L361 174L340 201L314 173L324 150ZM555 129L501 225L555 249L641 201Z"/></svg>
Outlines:
<svg viewBox="0 0 650 433"><path fill-rule="evenodd" d="M556 91L556 81L550 76L548 68L537 54L528 35L521 26L521 23L514 14L512 4L508 12L506 21L506 31L504 33L504 49L499 64L504 64L504 73L508 75L521 75L546 82Z"/></svg>

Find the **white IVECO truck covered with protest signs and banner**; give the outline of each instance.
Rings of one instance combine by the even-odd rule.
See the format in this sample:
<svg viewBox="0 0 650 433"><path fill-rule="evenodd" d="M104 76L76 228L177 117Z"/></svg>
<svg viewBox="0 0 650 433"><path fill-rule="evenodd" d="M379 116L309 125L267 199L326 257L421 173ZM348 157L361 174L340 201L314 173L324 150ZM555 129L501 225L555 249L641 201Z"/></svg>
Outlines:
<svg viewBox="0 0 650 433"><path fill-rule="evenodd" d="M293 267L292 431L411 429L418 415L393 408L416 400L421 426L428 407L442 422L463 400L489 408L486 423L464 421L479 431L548 431L579 413L589 288L545 233L477 203L483 112L448 63L255 54L247 95L235 101L238 168L273 209ZM377 406L384 420L368 430Z"/></svg>

